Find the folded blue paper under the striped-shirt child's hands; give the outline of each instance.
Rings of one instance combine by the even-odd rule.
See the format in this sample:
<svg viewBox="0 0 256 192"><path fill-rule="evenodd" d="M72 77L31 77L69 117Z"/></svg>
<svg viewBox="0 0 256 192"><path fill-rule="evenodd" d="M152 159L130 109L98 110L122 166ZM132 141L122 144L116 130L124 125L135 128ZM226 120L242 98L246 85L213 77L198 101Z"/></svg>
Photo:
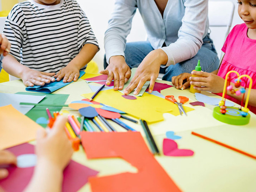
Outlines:
<svg viewBox="0 0 256 192"><path fill-rule="evenodd" d="M84 74L85 74L84 71L80 71L79 78L81 78L81 76L83 76ZM54 82L50 82L48 84L45 84L44 86L36 86L35 85L34 87L27 87L26 91L34 91L34 92L38 92L38 93L52 93L53 91L56 91L62 87L65 87L72 82L64 83L62 80L61 81L55 80Z"/></svg>

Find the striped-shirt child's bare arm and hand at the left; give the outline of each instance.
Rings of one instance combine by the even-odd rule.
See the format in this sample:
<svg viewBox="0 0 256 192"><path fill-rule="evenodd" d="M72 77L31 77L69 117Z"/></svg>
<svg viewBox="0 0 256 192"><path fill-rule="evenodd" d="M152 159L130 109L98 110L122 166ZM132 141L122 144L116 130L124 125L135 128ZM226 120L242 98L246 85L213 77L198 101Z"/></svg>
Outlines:
<svg viewBox="0 0 256 192"><path fill-rule="evenodd" d="M24 85L33 87L34 85L42 86L45 83L55 81L52 77L55 73L39 72L24 66L14 56L8 54L3 59L3 69L12 76L22 79Z"/></svg>

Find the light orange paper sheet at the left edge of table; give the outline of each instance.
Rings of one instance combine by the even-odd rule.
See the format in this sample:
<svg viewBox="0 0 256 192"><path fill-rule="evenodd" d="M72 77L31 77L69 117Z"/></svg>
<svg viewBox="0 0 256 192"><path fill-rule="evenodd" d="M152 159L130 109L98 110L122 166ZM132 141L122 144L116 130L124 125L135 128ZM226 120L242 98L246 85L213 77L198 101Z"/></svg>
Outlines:
<svg viewBox="0 0 256 192"><path fill-rule="evenodd" d="M41 128L12 105L0 107L0 150L35 140Z"/></svg>

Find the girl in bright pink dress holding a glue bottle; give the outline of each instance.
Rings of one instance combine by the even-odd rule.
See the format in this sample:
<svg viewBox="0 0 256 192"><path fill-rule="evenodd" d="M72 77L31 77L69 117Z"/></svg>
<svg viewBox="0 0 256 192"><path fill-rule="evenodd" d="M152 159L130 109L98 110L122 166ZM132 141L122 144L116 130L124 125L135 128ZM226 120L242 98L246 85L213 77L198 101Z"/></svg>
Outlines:
<svg viewBox="0 0 256 192"><path fill-rule="evenodd" d="M246 74L253 79L248 108L256 114L256 0L238 0L238 4L238 14L244 23L236 25L228 35L222 47L225 55L219 69L211 73L192 72L192 75L201 77L182 73L172 77L172 84L177 89L185 89L193 84L197 90L222 93L227 72L235 70L240 75ZM230 85L234 86L234 81L235 78ZM248 85L247 82L246 89ZM241 86L245 86L245 81L241 81ZM222 96L222 94L218 95ZM242 94L238 96L227 91L227 99L241 104Z"/></svg>

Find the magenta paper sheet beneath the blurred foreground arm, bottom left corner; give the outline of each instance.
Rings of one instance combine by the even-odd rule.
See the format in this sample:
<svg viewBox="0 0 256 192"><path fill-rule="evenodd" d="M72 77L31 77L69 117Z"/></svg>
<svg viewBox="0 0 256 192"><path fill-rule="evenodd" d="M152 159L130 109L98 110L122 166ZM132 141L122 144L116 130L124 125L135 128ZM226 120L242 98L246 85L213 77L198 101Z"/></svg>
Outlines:
<svg viewBox="0 0 256 192"><path fill-rule="evenodd" d="M8 151L14 153L16 156L35 154L34 146L28 143L9 148ZM8 171L8 177L0 180L0 187L2 187L4 191L22 192L32 178L34 167L18 168L12 166L8 168ZM97 174L98 171L71 160L63 172L62 192L78 191L88 182L89 177Z"/></svg>

